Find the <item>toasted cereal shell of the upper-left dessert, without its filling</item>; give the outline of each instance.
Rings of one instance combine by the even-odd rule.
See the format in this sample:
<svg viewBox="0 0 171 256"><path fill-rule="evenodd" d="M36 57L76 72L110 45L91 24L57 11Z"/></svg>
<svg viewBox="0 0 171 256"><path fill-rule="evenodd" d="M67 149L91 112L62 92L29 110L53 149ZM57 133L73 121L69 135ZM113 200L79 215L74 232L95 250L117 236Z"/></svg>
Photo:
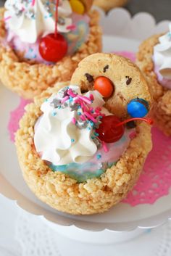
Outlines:
<svg viewBox="0 0 171 256"><path fill-rule="evenodd" d="M3 22L4 9L0 8L0 36L6 34ZM25 99L33 99L54 83L70 80L81 59L89 54L101 51L101 28L99 13L89 12L90 35L86 44L73 56L66 56L56 65L27 62L21 59L11 48L0 46L0 80L12 91Z"/></svg>

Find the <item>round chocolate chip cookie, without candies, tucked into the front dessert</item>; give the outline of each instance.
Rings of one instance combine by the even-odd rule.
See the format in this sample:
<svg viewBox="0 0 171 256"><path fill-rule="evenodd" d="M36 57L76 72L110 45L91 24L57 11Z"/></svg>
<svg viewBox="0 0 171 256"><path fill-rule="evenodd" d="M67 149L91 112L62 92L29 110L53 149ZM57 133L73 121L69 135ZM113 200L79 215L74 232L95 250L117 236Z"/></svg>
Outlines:
<svg viewBox="0 0 171 256"><path fill-rule="evenodd" d="M99 76L109 78L114 85L114 94L105 107L118 117L128 117L127 105L137 96L151 103L146 80L130 59L115 54L92 54L79 63L71 84L79 84L83 91L93 90L94 80Z"/></svg>

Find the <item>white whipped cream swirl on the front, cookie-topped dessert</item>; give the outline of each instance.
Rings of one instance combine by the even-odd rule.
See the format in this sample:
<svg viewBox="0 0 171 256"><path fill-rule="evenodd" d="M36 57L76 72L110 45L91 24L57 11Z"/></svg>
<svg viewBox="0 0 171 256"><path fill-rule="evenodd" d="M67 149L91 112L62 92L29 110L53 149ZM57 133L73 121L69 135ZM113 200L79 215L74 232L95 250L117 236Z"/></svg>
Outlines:
<svg viewBox="0 0 171 256"><path fill-rule="evenodd" d="M73 91L81 94L78 86L70 86ZM83 163L91 160L97 152L97 146L91 138L93 128L79 129L72 123L73 117L78 118L78 110L71 111L70 106L54 108L51 102L54 99L62 99L61 92L52 95L41 106L43 115L36 123L34 143L36 151L41 154L43 160L54 165L67 165L71 162ZM94 100L91 107L102 107L104 100L98 91L88 91L84 96L93 94ZM79 109L82 112L82 108ZM103 112L109 112L103 108Z"/></svg>

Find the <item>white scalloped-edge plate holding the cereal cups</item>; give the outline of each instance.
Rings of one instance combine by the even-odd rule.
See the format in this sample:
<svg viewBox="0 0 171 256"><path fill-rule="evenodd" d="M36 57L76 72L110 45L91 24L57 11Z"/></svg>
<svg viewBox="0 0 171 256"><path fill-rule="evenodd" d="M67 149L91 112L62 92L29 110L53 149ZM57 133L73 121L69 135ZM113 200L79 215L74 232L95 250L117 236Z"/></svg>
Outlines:
<svg viewBox="0 0 171 256"><path fill-rule="evenodd" d="M152 33L155 30L162 31L163 28L167 28L166 24L168 23L162 22L156 26L153 17L148 14L139 14L131 19L128 12L123 9L115 9L110 13L109 17L104 17L102 12L101 14L101 23L104 27L104 32L105 28L107 28L106 35L104 36L104 51L136 51L140 40L139 28L141 28L141 38L145 38L149 36L149 29L147 28L151 28ZM146 25L146 21L149 26ZM118 33L121 33L122 36L118 36ZM53 223L58 223L62 226L74 225L91 231L101 231L104 229L128 231L137 227L150 228L159 226L168 218L171 218L171 193L157 200L154 205L131 207L130 205L120 203L109 210L109 212L93 216L71 216L57 212L41 203L30 192L28 186L25 185L17 163L14 144L9 140L7 131L9 112L14 110L18 103L19 97L16 94L8 91L4 86L0 87L1 194L16 200L17 204L28 212L32 212L35 215L42 215L43 218L51 220Z"/></svg>

